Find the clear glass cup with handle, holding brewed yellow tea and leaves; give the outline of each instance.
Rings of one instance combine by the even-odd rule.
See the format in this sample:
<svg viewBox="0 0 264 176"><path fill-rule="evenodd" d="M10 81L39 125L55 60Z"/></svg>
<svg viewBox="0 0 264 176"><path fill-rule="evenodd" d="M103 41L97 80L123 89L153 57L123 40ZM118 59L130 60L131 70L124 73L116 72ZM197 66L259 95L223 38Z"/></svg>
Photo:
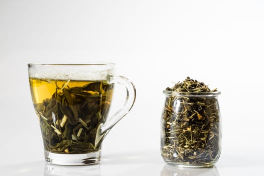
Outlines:
<svg viewBox="0 0 264 176"><path fill-rule="evenodd" d="M101 144L132 108L136 90L115 64L28 64L33 105L39 119L45 160L59 165L100 161ZM108 112L114 84L126 88L123 107Z"/></svg>

